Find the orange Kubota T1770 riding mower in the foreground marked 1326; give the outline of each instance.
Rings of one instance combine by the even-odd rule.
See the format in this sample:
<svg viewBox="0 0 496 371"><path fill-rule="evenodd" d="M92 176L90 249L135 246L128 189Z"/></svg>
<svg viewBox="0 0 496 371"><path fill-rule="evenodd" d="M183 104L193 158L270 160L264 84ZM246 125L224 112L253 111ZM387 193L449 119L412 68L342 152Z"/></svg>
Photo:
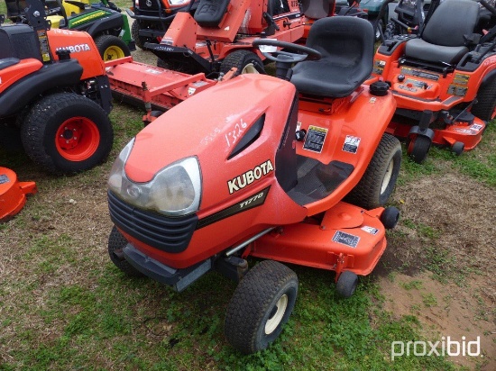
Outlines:
<svg viewBox="0 0 496 371"><path fill-rule="evenodd" d="M373 39L354 17L318 20L307 46L258 39L280 78L234 77L139 132L108 180L115 266L177 291L214 269L240 280L225 335L244 353L294 307L298 278L280 262L335 271L352 295L399 217L383 207L400 171L400 141L384 133L395 100L363 85ZM248 257L266 260L249 270Z"/></svg>

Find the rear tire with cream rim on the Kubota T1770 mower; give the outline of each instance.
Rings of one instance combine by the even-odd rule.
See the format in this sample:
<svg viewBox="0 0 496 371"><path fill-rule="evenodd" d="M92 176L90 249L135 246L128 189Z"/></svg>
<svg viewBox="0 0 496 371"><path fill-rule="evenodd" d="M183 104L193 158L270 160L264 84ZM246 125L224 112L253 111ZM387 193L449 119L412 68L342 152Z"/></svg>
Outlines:
<svg viewBox="0 0 496 371"><path fill-rule="evenodd" d="M400 140L390 134L382 135L362 179L346 195L345 201L368 210L386 204L394 191L400 165Z"/></svg>

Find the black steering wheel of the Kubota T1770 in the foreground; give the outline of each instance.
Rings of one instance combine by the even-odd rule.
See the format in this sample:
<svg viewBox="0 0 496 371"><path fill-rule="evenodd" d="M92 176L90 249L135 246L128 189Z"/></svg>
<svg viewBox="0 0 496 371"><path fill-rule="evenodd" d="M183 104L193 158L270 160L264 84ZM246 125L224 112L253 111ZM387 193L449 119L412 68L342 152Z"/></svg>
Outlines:
<svg viewBox="0 0 496 371"><path fill-rule="evenodd" d="M303 45L293 44L291 42L279 41L274 39L255 39L253 46L275 46L285 50L293 50L289 52L285 50L262 51L263 57L274 62L298 63L302 60L318 60L322 58L322 54L315 49L308 48Z"/></svg>

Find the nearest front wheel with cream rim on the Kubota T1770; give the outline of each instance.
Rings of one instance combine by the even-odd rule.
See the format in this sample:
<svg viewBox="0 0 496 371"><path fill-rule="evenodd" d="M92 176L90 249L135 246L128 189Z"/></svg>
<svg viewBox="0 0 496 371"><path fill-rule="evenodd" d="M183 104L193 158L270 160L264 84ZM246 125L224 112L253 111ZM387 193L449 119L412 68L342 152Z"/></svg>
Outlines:
<svg viewBox="0 0 496 371"><path fill-rule="evenodd" d="M289 320L298 294L298 277L289 267L264 260L248 271L225 314L225 337L244 354L265 349Z"/></svg>

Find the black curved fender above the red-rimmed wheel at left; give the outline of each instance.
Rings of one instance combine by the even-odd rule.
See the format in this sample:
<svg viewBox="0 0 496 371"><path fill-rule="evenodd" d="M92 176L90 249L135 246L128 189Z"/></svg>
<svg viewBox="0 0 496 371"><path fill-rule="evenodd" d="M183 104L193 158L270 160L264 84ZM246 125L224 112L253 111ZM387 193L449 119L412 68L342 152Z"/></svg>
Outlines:
<svg viewBox="0 0 496 371"><path fill-rule="evenodd" d="M54 63L10 86L0 96L0 117L21 111L37 96L59 86L78 85L83 68L76 59Z"/></svg>

